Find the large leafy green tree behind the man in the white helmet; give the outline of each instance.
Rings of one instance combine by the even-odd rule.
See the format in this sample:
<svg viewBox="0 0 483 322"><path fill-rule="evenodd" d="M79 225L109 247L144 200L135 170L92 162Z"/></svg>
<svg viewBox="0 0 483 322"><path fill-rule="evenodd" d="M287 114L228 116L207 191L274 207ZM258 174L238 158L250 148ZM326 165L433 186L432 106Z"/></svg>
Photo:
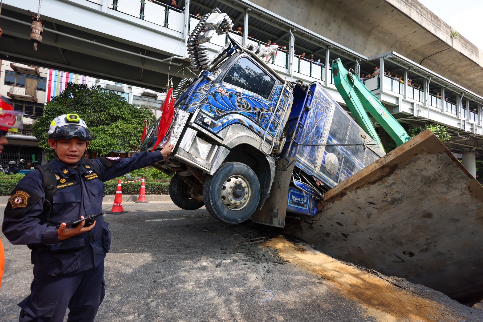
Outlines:
<svg viewBox="0 0 483 322"><path fill-rule="evenodd" d="M65 90L45 104L43 116L32 125L39 147L54 154L48 143L48 129L52 120L62 114L76 113L85 121L92 133L88 153L107 155L113 151L136 151L139 147L144 119L153 113L147 108L136 108L125 98L99 85L68 83Z"/></svg>

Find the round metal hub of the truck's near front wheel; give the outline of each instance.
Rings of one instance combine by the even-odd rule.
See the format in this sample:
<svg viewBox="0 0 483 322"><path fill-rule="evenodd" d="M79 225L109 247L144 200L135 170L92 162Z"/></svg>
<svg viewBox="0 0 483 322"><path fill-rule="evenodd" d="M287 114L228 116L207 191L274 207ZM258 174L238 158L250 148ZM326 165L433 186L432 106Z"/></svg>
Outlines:
<svg viewBox="0 0 483 322"><path fill-rule="evenodd" d="M227 208L240 210L250 199L250 185L242 176L229 177L221 187L221 198Z"/></svg>

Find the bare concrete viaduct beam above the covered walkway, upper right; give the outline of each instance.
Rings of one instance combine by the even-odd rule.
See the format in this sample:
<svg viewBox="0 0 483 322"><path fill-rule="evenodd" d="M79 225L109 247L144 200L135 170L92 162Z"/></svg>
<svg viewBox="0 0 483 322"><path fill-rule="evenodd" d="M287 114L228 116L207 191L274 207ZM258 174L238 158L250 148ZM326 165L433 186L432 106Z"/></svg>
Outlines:
<svg viewBox="0 0 483 322"><path fill-rule="evenodd" d="M253 3L364 56L394 51L483 95L482 49L417 0Z"/></svg>

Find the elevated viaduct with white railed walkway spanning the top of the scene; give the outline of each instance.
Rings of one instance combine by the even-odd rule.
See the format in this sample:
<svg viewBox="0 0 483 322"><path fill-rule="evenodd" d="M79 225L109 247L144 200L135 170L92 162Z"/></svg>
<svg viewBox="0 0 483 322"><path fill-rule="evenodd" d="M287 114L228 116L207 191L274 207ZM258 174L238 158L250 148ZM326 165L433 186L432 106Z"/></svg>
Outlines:
<svg viewBox="0 0 483 322"><path fill-rule="evenodd" d="M183 0L178 2L182 8ZM475 157L483 157L482 50L464 35L456 36L457 30L417 0L185 0L189 15L157 0L43 0L43 43L35 52L28 10L35 14L38 5L37 0L3 0L0 59L159 91L169 77L176 84L193 76L187 70L186 35L197 23L194 14L219 7L235 26L243 25L245 43L289 44L289 53L279 52L271 62L274 70L322 82L341 104L330 70L294 56L294 49L322 57L326 66L341 57L356 71L379 65L403 79L412 77L420 90L387 83L385 77L370 81L376 83L373 93L401 123L448 126L455 139L447 146L466 153L470 168ZM223 39L210 43L211 54L223 44Z"/></svg>

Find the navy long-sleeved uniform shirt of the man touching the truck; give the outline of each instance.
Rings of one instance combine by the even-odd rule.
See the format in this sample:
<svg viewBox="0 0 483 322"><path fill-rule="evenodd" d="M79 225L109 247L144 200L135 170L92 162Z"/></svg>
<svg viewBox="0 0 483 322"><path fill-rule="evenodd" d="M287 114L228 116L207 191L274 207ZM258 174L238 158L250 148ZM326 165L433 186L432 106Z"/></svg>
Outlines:
<svg viewBox="0 0 483 322"><path fill-rule="evenodd" d="M56 175L56 192L51 209L51 225L42 214L45 192L42 174L34 170L18 182L8 200L3 217L3 234L12 244L32 249L36 272L47 275L77 273L97 267L109 252L111 233L103 216L96 220L92 233L59 241L57 225L102 211L104 181L163 159L160 151L141 152L128 158L93 159L100 173L84 161L73 169L57 158L49 162Z"/></svg>

